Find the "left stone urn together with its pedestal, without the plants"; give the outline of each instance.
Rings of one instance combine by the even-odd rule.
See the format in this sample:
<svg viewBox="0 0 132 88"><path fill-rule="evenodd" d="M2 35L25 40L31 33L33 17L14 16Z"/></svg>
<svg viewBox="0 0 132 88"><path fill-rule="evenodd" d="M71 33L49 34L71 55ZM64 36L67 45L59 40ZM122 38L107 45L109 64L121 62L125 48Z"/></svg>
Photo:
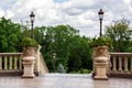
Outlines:
<svg viewBox="0 0 132 88"><path fill-rule="evenodd" d="M36 47L24 47L23 48L23 75L22 77L24 78L33 78L35 77L34 75L34 64L35 64L35 53L36 53Z"/></svg>

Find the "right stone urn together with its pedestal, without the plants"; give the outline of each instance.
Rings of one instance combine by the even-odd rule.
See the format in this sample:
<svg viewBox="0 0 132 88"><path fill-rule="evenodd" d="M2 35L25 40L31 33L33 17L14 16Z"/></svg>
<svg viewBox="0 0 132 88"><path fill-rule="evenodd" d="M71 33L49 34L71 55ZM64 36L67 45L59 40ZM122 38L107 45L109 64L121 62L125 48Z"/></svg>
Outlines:
<svg viewBox="0 0 132 88"><path fill-rule="evenodd" d="M109 66L109 51L107 46L98 46L94 48L94 76L95 79L108 79L107 72Z"/></svg>

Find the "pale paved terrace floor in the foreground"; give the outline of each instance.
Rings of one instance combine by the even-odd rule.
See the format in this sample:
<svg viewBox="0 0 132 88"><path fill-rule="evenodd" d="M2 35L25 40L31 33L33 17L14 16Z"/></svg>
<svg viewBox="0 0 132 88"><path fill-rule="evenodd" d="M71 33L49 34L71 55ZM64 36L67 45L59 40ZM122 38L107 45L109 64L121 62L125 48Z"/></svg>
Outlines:
<svg viewBox="0 0 132 88"><path fill-rule="evenodd" d="M45 74L35 78L1 76L0 88L132 88L132 79L94 80L91 75Z"/></svg>

